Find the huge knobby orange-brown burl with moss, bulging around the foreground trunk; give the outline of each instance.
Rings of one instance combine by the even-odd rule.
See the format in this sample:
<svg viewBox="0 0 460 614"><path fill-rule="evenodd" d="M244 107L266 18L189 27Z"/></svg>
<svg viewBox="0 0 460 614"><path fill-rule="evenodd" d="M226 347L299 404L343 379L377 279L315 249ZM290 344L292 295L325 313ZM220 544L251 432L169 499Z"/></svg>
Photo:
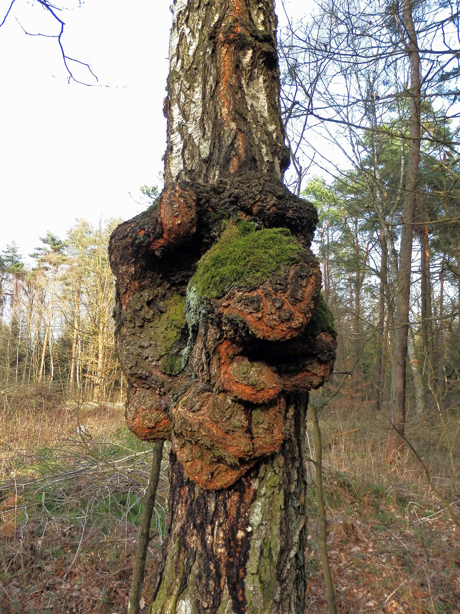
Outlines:
<svg viewBox="0 0 460 614"><path fill-rule="evenodd" d="M112 237L128 424L171 439L202 488L228 488L277 451L286 393L331 373L315 215L265 177L179 182Z"/></svg>

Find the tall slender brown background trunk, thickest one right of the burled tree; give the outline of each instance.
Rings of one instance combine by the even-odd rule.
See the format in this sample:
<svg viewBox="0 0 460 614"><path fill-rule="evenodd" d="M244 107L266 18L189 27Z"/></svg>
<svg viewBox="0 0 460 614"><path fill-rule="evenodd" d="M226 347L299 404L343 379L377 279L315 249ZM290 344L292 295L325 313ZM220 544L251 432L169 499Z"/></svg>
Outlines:
<svg viewBox="0 0 460 614"><path fill-rule="evenodd" d="M391 370L391 400L389 427L386 438L387 459L392 459L404 446L410 266L412 263L413 221L417 201L418 166L420 163L420 55L412 20L410 0L404 0L404 28L407 34L405 47L410 63L410 127L404 208L401 220L401 248L399 251L393 365Z"/></svg>

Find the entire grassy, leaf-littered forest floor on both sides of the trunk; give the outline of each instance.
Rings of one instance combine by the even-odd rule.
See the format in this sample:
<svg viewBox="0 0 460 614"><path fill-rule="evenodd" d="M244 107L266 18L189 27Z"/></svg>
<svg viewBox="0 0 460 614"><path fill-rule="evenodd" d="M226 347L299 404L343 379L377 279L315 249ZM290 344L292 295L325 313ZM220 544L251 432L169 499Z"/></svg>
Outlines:
<svg viewBox="0 0 460 614"><path fill-rule="evenodd" d="M383 462L385 432L372 411L323 415L329 557L339 612L460 614L460 529L407 454ZM128 434L120 406L80 410L91 440L75 433L75 408L28 410L0 435L0 612L126 612L149 449ZM448 488L439 433L413 427L413 441ZM431 441L436 442L431 443ZM418 448L420 449L420 448ZM314 453L314 451L313 451ZM434 461L433 461L434 459ZM309 518L308 607L327 612L317 547L314 473ZM451 484L460 513L459 485ZM159 484L143 601L165 529L167 467ZM455 496L456 494L456 496ZM263 613L261 613L263 614Z"/></svg>

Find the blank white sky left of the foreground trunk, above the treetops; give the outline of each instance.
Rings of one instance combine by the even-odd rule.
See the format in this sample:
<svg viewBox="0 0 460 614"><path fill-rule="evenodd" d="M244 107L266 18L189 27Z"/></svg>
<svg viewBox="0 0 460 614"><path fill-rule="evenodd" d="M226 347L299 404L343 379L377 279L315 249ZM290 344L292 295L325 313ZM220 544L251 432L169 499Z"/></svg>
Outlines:
<svg viewBox="0 0 460 614"><path fill-rule="evenodd" d="M0 23L10 3L0 0ZM86 87L67 83L56 39L22 29L56 34L58 24L37 2L15 1L0 28L0 250L15 241L26 255L48 230L64 237L79 217L97 223L141 210L132 197L163 171L170 4L63 2L75 7L58 13L66 54L99 79ZM293 13L305 6L285 4Z"/></svg>

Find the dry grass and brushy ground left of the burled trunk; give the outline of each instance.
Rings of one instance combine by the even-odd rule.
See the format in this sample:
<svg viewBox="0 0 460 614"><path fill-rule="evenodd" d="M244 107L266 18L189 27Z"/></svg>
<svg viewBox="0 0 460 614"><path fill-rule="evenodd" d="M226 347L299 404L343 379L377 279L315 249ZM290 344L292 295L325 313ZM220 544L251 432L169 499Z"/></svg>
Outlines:
<svg viewBox="0 0 460 614"><path fill-rule="evenodd" d="M128 432L120 406L16 409L0 440L0 612L123 612L150 444ZM77 435L79 418L91 440ZM150 566L167 488L164 466Z"/></svg>

